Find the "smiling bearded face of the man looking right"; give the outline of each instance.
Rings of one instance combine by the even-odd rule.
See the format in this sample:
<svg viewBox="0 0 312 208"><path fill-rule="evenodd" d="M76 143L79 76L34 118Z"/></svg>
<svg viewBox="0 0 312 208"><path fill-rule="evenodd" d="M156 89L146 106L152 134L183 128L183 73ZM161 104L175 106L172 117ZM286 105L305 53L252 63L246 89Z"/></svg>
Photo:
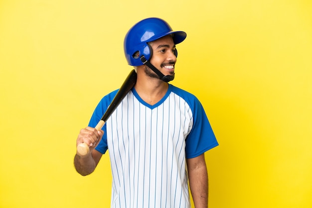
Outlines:
<svg viewBox="0 0 312 208"><path fill-rule="evenodd" d="M150 42L150 45L153 49L153 55L150 60L151 64L153 64L163 75L173 75L176 57L173 53L175 45L172 37L170 35L164 36ZM156 73L149 67L145 68L145 72L150 77L159 79Z"/></svg>

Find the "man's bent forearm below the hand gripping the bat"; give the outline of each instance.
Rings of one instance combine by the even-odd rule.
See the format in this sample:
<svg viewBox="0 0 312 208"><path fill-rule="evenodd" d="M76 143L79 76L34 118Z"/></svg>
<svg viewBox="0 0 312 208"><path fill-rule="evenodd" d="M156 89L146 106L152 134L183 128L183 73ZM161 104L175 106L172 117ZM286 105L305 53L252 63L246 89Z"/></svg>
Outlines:
<svg viewBox="0 0 312 208"><path fill-rule="evenodd" d="M96 167L96 163L91 153L83 157L76 154L74 158L74 165L76 171L82 176L91 174Z"/></svg>

